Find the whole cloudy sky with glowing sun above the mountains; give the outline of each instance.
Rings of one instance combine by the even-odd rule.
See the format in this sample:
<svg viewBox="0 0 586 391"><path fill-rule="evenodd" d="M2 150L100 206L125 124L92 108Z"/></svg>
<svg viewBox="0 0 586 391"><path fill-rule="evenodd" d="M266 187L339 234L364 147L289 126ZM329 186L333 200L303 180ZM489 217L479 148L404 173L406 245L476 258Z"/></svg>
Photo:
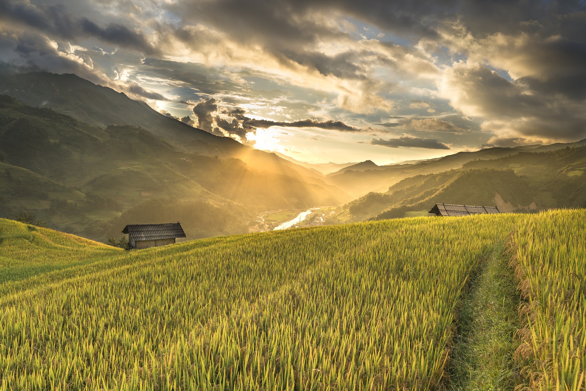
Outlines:
<svg viewBox="0 0 586 391"><path fill-rule="evenodd" d="M0 63L299 161L586 138L586 2L0 0Z"/></svg>

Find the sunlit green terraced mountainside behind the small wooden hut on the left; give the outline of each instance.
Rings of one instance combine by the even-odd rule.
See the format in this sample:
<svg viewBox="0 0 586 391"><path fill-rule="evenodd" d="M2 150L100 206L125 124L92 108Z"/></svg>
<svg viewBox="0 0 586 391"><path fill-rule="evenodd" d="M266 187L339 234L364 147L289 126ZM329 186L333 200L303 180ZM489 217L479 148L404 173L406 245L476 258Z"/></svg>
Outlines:
<svg viewBox="0 0 586 391"><path fill-rule="evenodd" d="M276 171L294 176L178 151L140 127L92 127L0 96L1 216L28 211L49 226L94 239L119 234L124 217L165 222L189 216L180 219L188 234L203 237L247 232L257 210L339 203L328 190L333 186L303 181L288 162L264 155Z"/></svg>

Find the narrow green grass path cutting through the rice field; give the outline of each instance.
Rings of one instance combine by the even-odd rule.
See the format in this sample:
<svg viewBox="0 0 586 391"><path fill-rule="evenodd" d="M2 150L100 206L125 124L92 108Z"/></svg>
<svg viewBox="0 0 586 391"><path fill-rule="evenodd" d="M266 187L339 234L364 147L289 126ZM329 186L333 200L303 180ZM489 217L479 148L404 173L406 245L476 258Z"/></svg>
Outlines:
<svg viewBox="0 0 586 391"><path fill-rule="evenodd" d="M458 311L449 389L512 390L519 383L513 361L519 295L502 246L485 259L470 286Z"/></svg>

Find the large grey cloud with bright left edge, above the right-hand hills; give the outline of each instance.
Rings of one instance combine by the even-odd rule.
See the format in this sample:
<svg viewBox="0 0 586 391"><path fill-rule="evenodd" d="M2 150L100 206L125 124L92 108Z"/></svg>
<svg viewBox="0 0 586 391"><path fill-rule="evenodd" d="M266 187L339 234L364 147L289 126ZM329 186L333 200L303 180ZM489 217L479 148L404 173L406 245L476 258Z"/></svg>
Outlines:
<svg viewBox="0 0 586 391"><path fill-rule="evenodd" d="M481 128L500 138L575 141L586 135L583 101L539 93L522 78L506 80L479 63L454 63L440 93L465 115L482 118Z"/></svg>

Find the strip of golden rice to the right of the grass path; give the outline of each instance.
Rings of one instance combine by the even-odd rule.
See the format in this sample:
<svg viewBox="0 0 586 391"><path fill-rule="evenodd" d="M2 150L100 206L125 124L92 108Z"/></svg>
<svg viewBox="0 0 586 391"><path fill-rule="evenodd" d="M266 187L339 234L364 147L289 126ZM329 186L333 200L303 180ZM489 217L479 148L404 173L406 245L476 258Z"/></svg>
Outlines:
<svg viewBox="0 0 586 391"><path fill-rule="evenodd" d="M517 226L513 266L527 304L517 356L533 389L583 390L586 379L586 215L546 212Z"/></svg>

